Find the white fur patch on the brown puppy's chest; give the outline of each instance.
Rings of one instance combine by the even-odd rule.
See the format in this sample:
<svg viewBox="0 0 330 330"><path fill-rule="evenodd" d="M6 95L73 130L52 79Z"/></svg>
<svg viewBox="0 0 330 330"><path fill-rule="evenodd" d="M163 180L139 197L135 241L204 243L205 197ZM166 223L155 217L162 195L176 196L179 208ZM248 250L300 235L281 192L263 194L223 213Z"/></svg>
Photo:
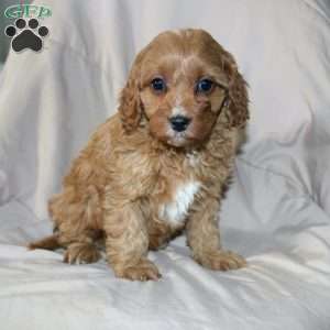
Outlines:
<svg viewBox="0 0 330 330"><path fill-rule="evenodd" d="M174 195L174 200L161 206L160 218L173 226L183 224L199 187L200 183L198 182L190 182L178 186Z"/></svg>

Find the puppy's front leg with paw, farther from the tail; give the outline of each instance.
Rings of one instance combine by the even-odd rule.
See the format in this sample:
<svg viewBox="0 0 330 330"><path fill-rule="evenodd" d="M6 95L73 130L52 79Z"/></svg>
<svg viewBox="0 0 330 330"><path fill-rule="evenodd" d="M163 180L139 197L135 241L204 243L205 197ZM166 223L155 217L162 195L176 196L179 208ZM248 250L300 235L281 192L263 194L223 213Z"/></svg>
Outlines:
<svg viewBox="0 0 330 330"><path fill-rule="evenodd" d="M193 257L202 266L216 271L238 270L246 265L244 258L223 251L218 228L219 201L205 198L193 209L186 232Z"/></svg>

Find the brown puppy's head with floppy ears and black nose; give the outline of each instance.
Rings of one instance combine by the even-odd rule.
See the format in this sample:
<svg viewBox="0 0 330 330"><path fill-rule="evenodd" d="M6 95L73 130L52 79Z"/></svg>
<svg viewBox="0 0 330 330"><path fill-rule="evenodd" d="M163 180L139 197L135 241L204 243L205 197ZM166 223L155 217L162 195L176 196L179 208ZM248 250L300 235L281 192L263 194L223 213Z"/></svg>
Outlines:
<svg viewBox="0 0 330 330"><path fill-rule="evenodd" d="M200 144L220 113L227 128L245 124L245 85L232 55L207 32L164 32L136 56L119 112L127 132L144 119L151 134L169 145Z"/></svg>

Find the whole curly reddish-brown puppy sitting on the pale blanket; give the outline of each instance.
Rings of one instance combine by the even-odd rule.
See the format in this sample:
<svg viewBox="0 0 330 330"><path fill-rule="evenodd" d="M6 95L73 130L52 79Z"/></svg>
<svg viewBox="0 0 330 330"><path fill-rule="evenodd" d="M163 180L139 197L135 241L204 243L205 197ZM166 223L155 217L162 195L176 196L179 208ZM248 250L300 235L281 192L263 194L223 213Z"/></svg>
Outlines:
<svg viewBox="0 0 330 330"><path fill-rule="evenodd" d="M221 249L218 216L248 118L246 84L231 54L202 30L161 33L136 56L118 113L50 200L54 234L30 248L64 246L65 262L91 263L103 241L118 277L157 279L147 251L185 230L200 265L244 266Z"/></svg>

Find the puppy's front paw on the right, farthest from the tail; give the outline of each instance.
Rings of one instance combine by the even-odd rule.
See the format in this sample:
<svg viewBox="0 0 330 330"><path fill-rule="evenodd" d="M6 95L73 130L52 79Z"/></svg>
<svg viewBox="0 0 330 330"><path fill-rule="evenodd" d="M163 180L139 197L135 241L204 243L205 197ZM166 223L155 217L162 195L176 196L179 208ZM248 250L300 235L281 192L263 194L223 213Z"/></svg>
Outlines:
<svg viewBox="0 0 330 330"><path fill-rule="evenodd" d="M213 271L239 270L248 265L246 261L241 255L222 250L195 257L195 260L204 267Z"/></svg>

